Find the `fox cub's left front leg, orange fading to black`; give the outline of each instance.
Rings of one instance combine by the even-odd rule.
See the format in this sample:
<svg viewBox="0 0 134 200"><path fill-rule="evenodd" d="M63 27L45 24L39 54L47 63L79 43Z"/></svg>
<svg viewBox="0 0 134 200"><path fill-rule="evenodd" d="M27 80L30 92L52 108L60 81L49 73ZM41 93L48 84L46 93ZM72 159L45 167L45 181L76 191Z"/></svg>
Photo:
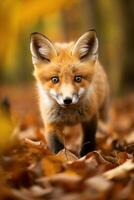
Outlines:
<svg viewBox="0 0 134 200"><path fill-rule="evenodd" d="M45 138L48 147L53 153L58 153L64 148L62 129L58 125L45 125Z"/></svg>

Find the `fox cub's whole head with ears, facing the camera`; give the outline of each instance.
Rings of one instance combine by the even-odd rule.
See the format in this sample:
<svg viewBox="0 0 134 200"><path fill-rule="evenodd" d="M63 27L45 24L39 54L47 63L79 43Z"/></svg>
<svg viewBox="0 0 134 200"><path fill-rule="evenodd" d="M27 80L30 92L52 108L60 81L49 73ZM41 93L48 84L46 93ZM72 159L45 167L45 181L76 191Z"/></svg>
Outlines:
<svg viewBox="0 0 134 200"><path fill-rule="evenodd" d="M32 33L30 50L34 76L42 92L60 106L80 102L90 88L98 57L96 32L90 30L76 42L53 43Z"/></svg>

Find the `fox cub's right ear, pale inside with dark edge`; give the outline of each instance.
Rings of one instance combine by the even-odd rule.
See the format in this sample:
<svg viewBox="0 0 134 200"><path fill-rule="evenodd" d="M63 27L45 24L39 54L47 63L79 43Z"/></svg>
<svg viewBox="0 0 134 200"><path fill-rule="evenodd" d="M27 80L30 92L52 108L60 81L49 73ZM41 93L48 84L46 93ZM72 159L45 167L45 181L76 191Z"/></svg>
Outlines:
<svg viewBox="0 0 134 200"><path fill-rule="evenodd" d="M74 44L72 54L80 60L96 60L98 57L98 39L95 30L83 34Z"/></svg>

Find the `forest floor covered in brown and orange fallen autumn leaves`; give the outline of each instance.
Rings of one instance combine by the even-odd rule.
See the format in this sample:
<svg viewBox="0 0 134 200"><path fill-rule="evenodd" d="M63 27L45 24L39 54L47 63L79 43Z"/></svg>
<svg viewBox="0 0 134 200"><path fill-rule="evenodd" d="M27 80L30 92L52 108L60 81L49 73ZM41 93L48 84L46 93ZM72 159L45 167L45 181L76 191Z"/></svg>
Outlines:
<svg viewBox="0 0 134 200"><path fill-rule="evenodd" d="M133 200L134 95L112 101L97 150L79 158L81 129L66 149L46 147L34 86L0 87L0 200ZM72 153L73 152L73 153Z"/></svg>

